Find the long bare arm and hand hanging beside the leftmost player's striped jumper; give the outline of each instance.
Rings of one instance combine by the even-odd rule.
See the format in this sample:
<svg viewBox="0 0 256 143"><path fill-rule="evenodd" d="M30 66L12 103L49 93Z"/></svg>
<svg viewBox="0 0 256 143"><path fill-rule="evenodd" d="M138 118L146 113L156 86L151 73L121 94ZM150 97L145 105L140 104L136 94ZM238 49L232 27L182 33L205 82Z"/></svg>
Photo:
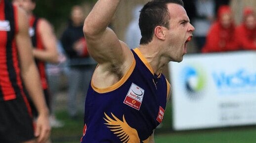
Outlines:
<svg viewBox="0 0 256 143"><path fill-rule="evenodd" d="M21 76L25 87L39 113L35 136L38 141L45 142L49 138L49 112L44 100L39 73L32 55L32 43L28 33L28 19L24 11L18 9L18 32L16 43L21 66Z"/></svg>

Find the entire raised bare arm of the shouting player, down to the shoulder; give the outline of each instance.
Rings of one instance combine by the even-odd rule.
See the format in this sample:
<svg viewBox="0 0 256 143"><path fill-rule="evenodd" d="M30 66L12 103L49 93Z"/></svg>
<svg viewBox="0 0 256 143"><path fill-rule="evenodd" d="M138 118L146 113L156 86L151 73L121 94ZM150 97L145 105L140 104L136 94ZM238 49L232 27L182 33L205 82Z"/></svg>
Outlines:
<svg viewBox="0 0 256 143"><path fill-rule="evenodd" d="M107 28L121 0L98 0L85 19L84 33L88 52L106 69L129 66L132 54L128 46L119 41L113 30ZM125 68L124 68L125 69Z"/></svg>

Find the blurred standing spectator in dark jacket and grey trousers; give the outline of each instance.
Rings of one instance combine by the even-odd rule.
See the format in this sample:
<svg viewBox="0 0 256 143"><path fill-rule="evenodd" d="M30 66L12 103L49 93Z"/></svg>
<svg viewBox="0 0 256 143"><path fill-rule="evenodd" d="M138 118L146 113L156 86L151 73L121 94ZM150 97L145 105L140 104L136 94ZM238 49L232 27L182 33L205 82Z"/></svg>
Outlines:
<svg viewBox="0 0 256 143"><path fill-rule="evenodd" d="M62 46L69 58L68 113L74 119L78 115L78 104L76 103L78 89L82 87L83 96L86 96L87 88L96 65L96 62L87 52L83 23L84 12L82 7L73 6L71 10L71 21L61 37ZM84 101L81 101L80 104L84 104Z"/></svg>

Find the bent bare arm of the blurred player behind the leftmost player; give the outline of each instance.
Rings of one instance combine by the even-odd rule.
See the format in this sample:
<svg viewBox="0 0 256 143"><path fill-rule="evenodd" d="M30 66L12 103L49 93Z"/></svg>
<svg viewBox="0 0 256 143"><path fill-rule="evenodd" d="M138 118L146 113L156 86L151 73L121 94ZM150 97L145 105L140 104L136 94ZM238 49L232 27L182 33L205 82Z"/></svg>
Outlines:
<svg viewBox="0 0 256 143"><path fill-rule="evenodd" d="M58 63L57 40L51 25L44 19L39 20L39 34L42 37L44 50L33 49L33 55L36 59Z"/></svg>

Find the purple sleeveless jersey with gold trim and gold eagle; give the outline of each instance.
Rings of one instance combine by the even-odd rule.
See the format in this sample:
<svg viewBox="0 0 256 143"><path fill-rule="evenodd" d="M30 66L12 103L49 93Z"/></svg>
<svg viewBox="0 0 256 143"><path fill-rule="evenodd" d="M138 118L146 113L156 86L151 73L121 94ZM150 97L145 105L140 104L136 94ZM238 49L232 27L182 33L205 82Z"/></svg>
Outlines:
<svg viewBox="0 0 256 143"><path fill-rule="evenodd" d="M115 85L91 84L85 101L82 143L147 143L162 122L170 84L156 76L138 49L133 63Z"/></svg>

